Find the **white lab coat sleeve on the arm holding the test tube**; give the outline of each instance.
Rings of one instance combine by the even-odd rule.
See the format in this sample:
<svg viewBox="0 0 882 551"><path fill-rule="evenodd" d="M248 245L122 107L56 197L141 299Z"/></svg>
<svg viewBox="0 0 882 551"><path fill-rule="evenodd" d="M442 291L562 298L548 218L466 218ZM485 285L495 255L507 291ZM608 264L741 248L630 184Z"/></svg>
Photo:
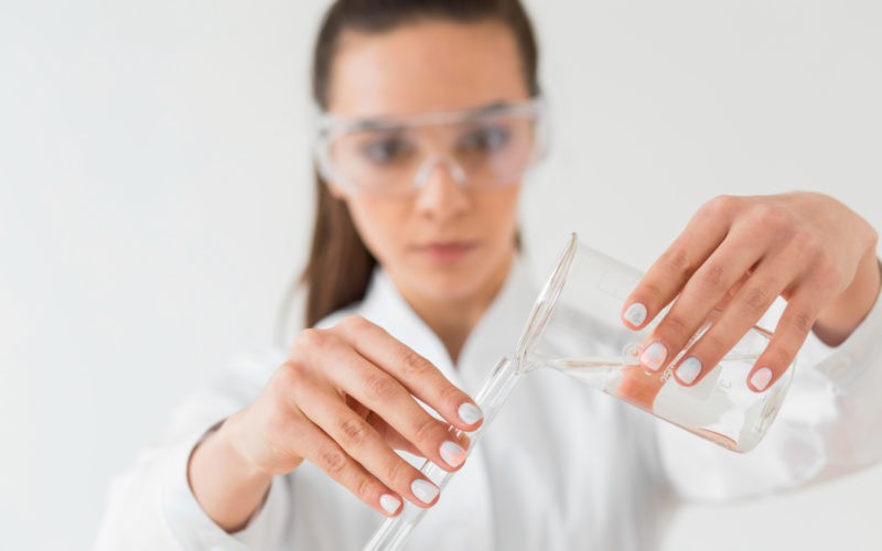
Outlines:
<svg viewBox="0 0 882 551"><path fill-rule="evenodd" d="M277 359L277 358L273 358ZM229 377L176 410L165 443L143 452L111 484L96 549L247 550L276 549L282 538L279 519L290 510L288 488L273 482L261 509L240 532L229 534L203 511L190 489L190 454L202 437L262 389L266 356L238 361ZM275 364L278 365L278 364Z"/></svg>

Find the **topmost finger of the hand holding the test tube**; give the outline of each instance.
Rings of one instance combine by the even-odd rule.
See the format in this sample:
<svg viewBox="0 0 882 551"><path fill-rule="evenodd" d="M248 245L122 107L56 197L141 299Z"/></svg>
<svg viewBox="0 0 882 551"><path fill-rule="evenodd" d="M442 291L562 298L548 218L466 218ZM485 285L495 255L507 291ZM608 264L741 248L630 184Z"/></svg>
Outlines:
<svg viewBox="0 0 882 551"><path fill-rule="evenodd" d="M469 431L478 426L483 413L474 400L428 359L363 317L349 317L344 324L346 338L361 355L383 367L448 422Z"/></svg>

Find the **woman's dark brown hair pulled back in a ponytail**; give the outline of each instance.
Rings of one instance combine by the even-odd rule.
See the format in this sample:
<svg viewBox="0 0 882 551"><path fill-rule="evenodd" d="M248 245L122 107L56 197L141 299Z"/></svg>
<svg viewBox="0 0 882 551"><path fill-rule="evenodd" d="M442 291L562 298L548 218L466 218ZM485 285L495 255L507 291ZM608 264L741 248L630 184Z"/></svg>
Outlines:
<svg viewBox="0 0 882 551"><path fill-rule="evenodd" d="M509 28L518 44L524 78L539 93L538 52L529 18L518 0L337 0L327 10L315 42L312 95L327 108L331 65L346 30L384 33L399 25L441 18L459 22L493 20ZM315 174L316 208L312 246L300 283L306 287L305 325L361 301L377 260L358 236L346 203Z"/></svg>

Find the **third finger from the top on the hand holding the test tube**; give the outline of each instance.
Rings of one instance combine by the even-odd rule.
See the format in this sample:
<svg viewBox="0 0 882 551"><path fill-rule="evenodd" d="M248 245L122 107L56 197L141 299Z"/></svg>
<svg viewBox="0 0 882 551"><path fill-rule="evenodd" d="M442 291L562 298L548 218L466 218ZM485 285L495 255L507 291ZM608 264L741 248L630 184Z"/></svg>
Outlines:
<svg viewBox="0 0 882 551"><path fill-rule="evenodd" d="M388 488L420 507L438 498L439 488L395 453L365 419L357 415L332 389L310 389L299 407L342 450Z"/></svg>

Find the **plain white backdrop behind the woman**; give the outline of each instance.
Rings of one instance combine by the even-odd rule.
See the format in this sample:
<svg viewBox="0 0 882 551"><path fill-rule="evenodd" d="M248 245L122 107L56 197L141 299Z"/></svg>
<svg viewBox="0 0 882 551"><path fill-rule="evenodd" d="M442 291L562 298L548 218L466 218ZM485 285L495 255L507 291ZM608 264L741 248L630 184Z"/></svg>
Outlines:
<svg viewBox="0 0 882 551"><path fill-rule="evenodd" d="M174 404L272 341L325 6L0 3L1 548L89 549ZM555 127L524 197L536 266L577 230L645 268L719 194L822 191L882 228L879 2L528 7ZM881 493L875 467L687 508L665 549L882 549Z"/></svg>

